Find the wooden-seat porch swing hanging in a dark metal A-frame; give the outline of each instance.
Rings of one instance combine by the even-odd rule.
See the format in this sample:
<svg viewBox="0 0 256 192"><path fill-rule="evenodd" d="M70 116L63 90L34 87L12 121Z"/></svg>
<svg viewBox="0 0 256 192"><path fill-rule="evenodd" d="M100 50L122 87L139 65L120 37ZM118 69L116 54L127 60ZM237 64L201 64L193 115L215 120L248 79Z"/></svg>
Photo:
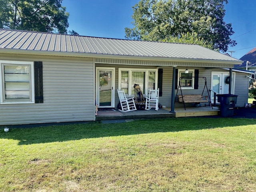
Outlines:
<svg viewBox="0 0 256 192"><path fill-rule="evenodd" d="M183 103L183 106L184 106L185 110L186 110L185 103L195 103L195 105L199 106L201 102L204 102L204 103L208 102L209 106L212 107L212 102L211 102L211 99L210 99L210 93L209 93L208 88L207 88L206 77L198 77L198 78L203 78L204 79L204 89L203 89L203 92L202 92L201 95L196 95L196 94L183 95L182 86L180 85L180 80L188 79L188 78L195 78L195 77L180 77L179 85L178 85L177 93L176 93L176 97L175 97L175 102L176 102L176 98L178 96L178 101L180 103ZM208 96L203 96L205 88L207 90ZM180 89L181 96L178 95L179 89ZM209 98L209 101L208 101L207 97ZM205 104L205 106L206 106L206 104ZM212 107L212 109L213 109L213 107Z"/></svg>

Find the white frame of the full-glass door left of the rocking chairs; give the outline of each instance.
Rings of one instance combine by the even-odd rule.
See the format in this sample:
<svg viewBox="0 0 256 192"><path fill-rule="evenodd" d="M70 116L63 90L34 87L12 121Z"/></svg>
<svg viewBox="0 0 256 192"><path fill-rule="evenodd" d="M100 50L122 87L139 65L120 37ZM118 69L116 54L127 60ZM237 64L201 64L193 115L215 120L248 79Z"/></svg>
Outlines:
<svg viewBox="0 0 256 192"><path fill-rule="evenodd" d="M111 76L111 105L100 106L100 71L112 71ZM115 108L115 68L113 67L96 67L96 104L98 108Z"/></svg>

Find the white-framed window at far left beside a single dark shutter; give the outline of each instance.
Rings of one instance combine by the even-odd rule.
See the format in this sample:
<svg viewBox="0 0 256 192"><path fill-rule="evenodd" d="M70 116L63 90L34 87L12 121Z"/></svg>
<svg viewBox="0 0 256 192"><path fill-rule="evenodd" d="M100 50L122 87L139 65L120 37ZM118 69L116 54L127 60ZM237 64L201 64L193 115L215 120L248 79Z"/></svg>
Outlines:
<svg viewBox="0 0 256 192"><path fill-rule="evenodd" d="M34 102L33 62L0 61L0 104Z"/></svg>

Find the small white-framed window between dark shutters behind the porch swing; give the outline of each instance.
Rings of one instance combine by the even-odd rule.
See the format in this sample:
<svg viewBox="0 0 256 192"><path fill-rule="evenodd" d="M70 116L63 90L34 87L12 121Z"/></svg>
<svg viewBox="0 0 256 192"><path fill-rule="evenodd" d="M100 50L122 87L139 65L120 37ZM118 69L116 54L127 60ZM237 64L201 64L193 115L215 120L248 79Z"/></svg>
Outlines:
<svg viewBox="0 0 256 192"><path fill-rule="evenodd" d="M184 77L181 78L180 77ZM180 86L182 89L194 89L194 70L189 70L188 73L185 73L185 70L178 70L178 80L180 80Z"/></svg>

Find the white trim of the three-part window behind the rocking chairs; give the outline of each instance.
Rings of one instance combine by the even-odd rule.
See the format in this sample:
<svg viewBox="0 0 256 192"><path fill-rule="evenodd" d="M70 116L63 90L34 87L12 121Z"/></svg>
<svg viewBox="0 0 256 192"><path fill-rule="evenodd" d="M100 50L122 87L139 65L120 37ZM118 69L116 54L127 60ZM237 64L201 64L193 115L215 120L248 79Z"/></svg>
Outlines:
<svg viewBox="0 0 256 192"><path fill-rule="evenodd" d="M148 89L148 74L150 71L155 72L155 89L158 88L158 69L150 69L150 68L118 68L118 90L121 90L121 76L122 71L128 71L128 85L130 85L130 81L132 79L132 72L140 71L145 72L145 93L143 93L144 96L148 96L149 89ZM133 84L132 84L133 85ZM133 96L132 94L132 88L128 88L128 94L127 96Z"/></svg>

